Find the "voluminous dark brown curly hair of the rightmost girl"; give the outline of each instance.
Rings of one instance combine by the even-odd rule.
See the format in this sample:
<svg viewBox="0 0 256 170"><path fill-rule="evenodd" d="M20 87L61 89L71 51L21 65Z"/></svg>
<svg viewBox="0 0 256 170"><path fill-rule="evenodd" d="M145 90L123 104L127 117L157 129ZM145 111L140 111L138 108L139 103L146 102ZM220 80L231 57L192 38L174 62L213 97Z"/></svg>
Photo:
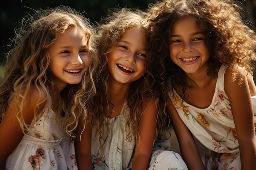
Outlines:
<svg viewBox="0 0 256 170"><path fill-rule="evenodd" d="M217 77L222 64L232 69L233 80L237 77L237 66L252 73L253 61L256 60L256 35L243 22L242 11L231 0L165 0L150 4L147 55L157 68L151 72L160 86L157 88L159 93L166 96L166 79L169 77L172 82L182 84L184 71L172 62L168 46L173 24L183 17L195 18L206 35L211 64L208 75Z"/></svg>

